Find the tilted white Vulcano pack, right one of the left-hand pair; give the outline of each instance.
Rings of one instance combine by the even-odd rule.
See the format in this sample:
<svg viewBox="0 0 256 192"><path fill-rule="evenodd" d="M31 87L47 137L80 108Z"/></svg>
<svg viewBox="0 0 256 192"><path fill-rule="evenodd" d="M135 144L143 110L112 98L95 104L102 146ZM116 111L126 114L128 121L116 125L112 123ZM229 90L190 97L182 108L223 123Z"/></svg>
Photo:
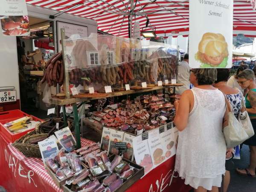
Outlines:
<svg viewBox="0 0 256 192"><path fill-rule="evenodd" d="M55 135L66 151L71 152L76 149L76 140L69 127L55 131Z"/></svg>

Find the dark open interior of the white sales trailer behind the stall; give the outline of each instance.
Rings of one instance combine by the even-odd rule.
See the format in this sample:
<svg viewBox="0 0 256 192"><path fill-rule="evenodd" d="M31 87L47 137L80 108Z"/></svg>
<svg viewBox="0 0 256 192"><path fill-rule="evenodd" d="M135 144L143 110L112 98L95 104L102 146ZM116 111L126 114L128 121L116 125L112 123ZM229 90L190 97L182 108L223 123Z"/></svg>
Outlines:
<svg viewBox="0 0 256 192"><path fill-rule="evenodd" d="M52 22L29 17L30 36L17 37L21 110L33 115L45 114L43 102L45 64L55 53ZM52 91L55 91L52 88Z"/></svg>

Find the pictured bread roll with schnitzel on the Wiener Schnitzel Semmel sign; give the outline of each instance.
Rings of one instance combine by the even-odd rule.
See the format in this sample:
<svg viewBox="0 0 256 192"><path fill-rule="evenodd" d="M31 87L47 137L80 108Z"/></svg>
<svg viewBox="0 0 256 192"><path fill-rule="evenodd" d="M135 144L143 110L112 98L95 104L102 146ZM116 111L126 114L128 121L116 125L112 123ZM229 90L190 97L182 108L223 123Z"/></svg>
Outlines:
<svg viewBox="0 0 256 192"><path fill-rule="evenodd" d="M228 56L227 42L219 33L207 32L198 44L196 57L202 63L217 67Z"/></svg>

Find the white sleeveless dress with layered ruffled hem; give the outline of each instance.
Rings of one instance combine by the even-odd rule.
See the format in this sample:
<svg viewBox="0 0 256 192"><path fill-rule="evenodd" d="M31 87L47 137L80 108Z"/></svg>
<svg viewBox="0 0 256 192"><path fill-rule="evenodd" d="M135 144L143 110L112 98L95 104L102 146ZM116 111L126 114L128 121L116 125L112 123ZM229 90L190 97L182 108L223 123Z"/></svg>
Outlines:
<svg viewBox="0 0 256 192"><path fill-rule="evenodd" d="M191 89L195 105L187 127L179 132L175 171L185 184L211 190L221 186L226 143L222 133L225 99L220 90Z"/></svg>

